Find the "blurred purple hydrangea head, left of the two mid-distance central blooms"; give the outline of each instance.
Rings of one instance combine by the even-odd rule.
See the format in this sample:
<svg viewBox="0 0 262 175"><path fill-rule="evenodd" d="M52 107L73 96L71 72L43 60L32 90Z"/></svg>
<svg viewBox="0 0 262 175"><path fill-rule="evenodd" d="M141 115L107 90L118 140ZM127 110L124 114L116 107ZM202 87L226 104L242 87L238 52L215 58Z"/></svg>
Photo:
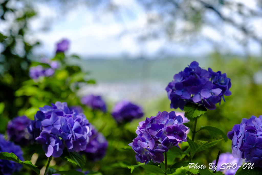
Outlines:
<svg viewBox="0 0 262 175"><path fill-rule="evenodd" d="M81 103L89 106L93 110L101 110L106 112L106 103L101 96L88 95L81 99Z"/></svg>

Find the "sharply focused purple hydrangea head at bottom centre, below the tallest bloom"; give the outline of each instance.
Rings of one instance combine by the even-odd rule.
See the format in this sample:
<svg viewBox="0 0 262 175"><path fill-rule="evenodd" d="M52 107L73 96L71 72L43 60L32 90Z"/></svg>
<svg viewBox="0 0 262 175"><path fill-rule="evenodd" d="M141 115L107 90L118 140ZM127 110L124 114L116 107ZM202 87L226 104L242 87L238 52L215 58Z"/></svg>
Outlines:
<svg viewBox="0 0 262 175"><path fill-rule="evenodd" d="M137 153L135 158L138 162L147 164L149 161L161 163L165 160L163 152L168 151L178 143L187 141L187 128L180 115L174 111L168 113L158 112L156 116L146 118L139 122L135 131L137 138L132 143L132 149Z"/></svg>

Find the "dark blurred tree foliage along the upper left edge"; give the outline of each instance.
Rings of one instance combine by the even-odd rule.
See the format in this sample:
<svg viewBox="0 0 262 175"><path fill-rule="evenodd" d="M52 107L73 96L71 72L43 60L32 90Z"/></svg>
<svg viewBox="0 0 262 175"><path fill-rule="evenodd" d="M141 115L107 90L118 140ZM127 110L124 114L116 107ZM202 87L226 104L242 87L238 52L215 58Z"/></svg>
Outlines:
<svg viewBox="0 0 262 175"><path fill-rule="evenodd" d="M26 96L17 98L15 91L22 82L30 79L28 68L32 59L31 51L39 45L31 45L24 38L28 20L35 14L28 3L23 3L23 8L16 8L10 1L0 4L0 22L6 22L8 28L8 37L1 41L3 50L0 55L0 101L5 106L2 114L5 118L16 116L19 108L28 100Z"/></svg>

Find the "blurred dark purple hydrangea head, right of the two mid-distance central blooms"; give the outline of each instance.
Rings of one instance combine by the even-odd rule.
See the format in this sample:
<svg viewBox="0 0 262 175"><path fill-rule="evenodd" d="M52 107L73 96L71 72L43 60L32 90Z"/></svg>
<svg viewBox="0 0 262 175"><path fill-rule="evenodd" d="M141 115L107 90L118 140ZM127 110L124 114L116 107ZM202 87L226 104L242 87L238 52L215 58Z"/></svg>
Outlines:
<svg viewBox="0 0 262 175"><path fill-rule="evenodd" d="M127 100L118 102L112 109L112 116L117 123L130 122L143 117L143 108Z"/></svg>

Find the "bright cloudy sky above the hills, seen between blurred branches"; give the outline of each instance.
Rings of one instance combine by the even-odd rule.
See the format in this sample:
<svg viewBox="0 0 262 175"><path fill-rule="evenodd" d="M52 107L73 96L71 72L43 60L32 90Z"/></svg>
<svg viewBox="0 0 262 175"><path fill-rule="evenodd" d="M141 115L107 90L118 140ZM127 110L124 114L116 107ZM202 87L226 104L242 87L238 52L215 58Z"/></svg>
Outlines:
<svg viewBox="0 0 262 175"><path fill-rule="evenodd" d="M241 0L234 0L241 1ZM50 57L56 50L56 43L62 39L70 40L69 54L77 54L83 59L95 57L161 57L163 55L201 57L214 52L214 47L208 40L214 40L224 46L222 53L244 55L243 47L234 39L241 35L230 25L223 25L225 36L209 26L203 26L200 34L203 40L185 45L171 43L164 38L139 43L138 31L145 27L147 14L136 0L113 0L120 6L117 18L113 13L93 13L85 5L59 14L56 5L33 1L37 15L30 21L30 32L26 38L29 43L40 41L41 45L34 52L37 55ZM245 1L242 1L245 3ZM250 1L250 8L255 4ZM227 9L223 13L230 15ZM207 13L208 19L216 21L214 13ZM237 19L237 16L235 17ZM262 20L254 20L258 31L262 29ZM181 22L179 25L184 25ZM1 24L0 24L1 31ZM122 35L121 35L122 34ZM250 40L249 48L252 55L261 55L260 46Z"/></svg>

